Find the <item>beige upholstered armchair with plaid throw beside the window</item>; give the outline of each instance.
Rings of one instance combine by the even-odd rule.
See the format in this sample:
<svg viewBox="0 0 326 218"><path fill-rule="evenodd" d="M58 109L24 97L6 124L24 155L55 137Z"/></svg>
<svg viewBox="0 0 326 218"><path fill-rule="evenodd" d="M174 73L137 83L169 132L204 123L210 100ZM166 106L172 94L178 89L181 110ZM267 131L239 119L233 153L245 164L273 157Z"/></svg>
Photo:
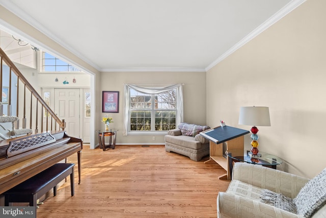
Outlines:
<svg viewBox="0 0 326 218"><path fill-rule="evenodd" d="M181 123L177 129L169 130L165 135L165 150L189 157L194 161L209 155L209 140L199 132L210 129L207 126Z"/></svg>

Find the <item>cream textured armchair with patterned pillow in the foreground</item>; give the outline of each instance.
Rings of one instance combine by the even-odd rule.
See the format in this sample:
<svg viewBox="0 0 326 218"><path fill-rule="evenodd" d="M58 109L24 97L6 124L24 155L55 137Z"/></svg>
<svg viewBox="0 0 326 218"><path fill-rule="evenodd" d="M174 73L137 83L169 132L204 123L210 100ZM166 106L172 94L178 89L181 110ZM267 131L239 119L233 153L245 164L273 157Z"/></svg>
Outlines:
<svg viewBox="0 0 326 218"><path fill-rule="evenodd" d="M325 189L326 169L309 180L237 162L228 190L218 195L218 217L326 217Z"/></svg>

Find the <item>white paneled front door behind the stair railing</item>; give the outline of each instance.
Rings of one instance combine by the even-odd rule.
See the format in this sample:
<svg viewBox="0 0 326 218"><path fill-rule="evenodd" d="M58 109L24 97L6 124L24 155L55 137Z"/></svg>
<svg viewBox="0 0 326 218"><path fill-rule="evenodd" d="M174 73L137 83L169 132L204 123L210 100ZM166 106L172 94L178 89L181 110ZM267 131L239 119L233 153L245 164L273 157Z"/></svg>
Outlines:
<svg viewBox="0 0 326 218"><path fill-rule="evenodd" d="M55 113L66 122L69 136L80 138L79 89L55 89Z"/></svg>

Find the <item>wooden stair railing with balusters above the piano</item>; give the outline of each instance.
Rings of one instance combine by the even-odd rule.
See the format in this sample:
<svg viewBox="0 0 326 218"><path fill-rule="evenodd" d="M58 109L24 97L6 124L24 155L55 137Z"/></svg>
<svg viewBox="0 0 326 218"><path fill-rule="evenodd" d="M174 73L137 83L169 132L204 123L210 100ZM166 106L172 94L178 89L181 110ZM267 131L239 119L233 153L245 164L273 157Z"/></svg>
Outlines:
<svg viewBox="0 0 326 218"><path fill-rule="evenodd" d="M8 78L4 78L4 66L6 65L9 67ZM14 85L12 85L13 73L17 77L17 84ZM6 84L9 84L9 87L6 87L5 89L3 89L3 84L6 82L4 79L8 79ZM8 104L7 114L5 115L13 115L13 109L15 109L14 115L19 117L19 120L22 120L21 128L34 129L35 133L65 129L65 120L61 120L56 113L52 111L48 104L43 100L29 81L25 79L20 70L1 48L0 90L2 90L2 98L0 99L0 102L2 102L2 105L0 104L0 116L4 115L3 107ZM13 96L13 91L16 91L16 96ZM13 108L13 105L15 108ZM29 116L29 120L26 116ZM16 129L20 128L19 120L16 122Z"/></svg>

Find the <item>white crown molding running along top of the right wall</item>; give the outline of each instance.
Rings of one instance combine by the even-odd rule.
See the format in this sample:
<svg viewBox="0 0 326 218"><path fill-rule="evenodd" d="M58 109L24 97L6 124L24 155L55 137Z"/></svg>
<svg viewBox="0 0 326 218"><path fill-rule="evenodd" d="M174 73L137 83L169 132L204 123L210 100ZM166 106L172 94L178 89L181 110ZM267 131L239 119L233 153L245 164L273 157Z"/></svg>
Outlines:
<svg viewBox="0 0 326 218"><path fill-rule="evenodd" d="M278 12L276 12L273 16L268 18L265 22L263 22L259 27L257 27L254 31L252 31L250 34L248 34L246 37L241 39L238 43L236 43L234 46L231 47L227 52L225 52L223 55L221 55L218 59L213 61L211 64L209 64L205 71L207 72L209 69L211 69L216 64L223 61L225 58L230 56L232 53L234 53L236 50L240 49L244 44L258 36L260 33L268 29L270 26L274 25L277 21L282 19L285 15L293 11L295 8L306 2L307 0L292 0L289 2L286 6L284 6L282 9L280 9Z"/></svg>

